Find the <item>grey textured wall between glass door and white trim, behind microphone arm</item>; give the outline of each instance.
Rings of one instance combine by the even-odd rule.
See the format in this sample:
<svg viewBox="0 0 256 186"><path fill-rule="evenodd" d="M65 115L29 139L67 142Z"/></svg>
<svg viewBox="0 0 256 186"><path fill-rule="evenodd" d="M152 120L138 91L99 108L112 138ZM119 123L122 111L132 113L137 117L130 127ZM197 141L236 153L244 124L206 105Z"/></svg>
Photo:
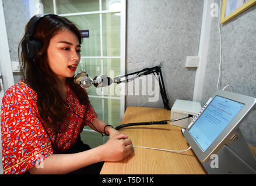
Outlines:
<svg viewBox="0 0 256 186"><path fill-rule="evenodd" d="M170 107L176 99L192 100L195 69L187 69L185 61L187 56L198 55L203 8L203 0L127 1L127 73L163 62ZM128 91L127 86L126 108L163 108L161 96L159 101L149 102L153 96Z"/></svg>

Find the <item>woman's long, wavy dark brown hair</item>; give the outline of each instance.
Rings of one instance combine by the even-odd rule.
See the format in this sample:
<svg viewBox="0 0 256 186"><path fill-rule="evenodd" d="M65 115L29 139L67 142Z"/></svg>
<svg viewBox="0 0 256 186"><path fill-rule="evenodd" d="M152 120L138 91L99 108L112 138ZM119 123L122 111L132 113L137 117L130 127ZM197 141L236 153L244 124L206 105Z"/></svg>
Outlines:
<svg viewBox="0 0 256 186"><path fill-rule="evenodd" d="M31 19L33 19L33 17ZM29 23L27 23L24 35L27 34L31 19ZM62 29L72 31L78 37L79 44L82 43L82 35L75 24L65 17L46 15L37 23L33 34L33 37L43 44L43 48L38 52L36 58L34 58L34 60L27 58L22 51L19 52L24 37L20 41L18 49L18 53L20 53L20 73L25 83L37 93L39 115L44 123L57 133L61 130L61 124L65 120L64 116L66 116L67 110L62 97L54 88L57 87L57 82L55 81L55 74L48 63L47 48L51 38ZM73 77L67 77L66 83L68 83L75 92L80 104L85 105L87 108L89 99L86 92L80 85L73 82Z"/></svg>

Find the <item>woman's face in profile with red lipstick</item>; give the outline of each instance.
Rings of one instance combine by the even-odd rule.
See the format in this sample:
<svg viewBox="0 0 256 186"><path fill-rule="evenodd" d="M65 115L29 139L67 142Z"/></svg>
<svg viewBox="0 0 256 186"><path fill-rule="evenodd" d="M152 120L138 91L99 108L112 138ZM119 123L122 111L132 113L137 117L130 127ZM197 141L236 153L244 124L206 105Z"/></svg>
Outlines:
<svg viewBox="0 0 256 186"><path fill-rule="evenodd" d="M47 49L48 62L59 80L75 75L80 48L78 37L72 31L61 30L51 38Z"/></svg>

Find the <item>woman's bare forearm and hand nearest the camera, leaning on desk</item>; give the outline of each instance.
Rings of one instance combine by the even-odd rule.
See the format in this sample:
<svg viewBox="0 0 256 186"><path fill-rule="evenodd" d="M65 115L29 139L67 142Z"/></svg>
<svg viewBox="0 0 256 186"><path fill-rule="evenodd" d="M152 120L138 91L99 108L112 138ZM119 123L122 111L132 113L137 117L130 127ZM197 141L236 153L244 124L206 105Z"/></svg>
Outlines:
<svg viewBox="0 0 256 186"><path fill-rule="evenodd" d="M126 139L124 139L126 138ZM133 152L131 140L125 134L116 135L106 144L73 154L52 154L40 166L30 168L30 174L66 174L90 164L127 158Z"/></svg>

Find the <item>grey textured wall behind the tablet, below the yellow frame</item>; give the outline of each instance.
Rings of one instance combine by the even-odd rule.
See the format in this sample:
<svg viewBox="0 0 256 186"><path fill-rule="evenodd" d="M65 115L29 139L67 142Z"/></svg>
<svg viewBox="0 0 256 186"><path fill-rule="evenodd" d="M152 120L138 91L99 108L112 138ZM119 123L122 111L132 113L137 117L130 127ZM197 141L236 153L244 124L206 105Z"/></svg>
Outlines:
<svg viewBox="0 0 256 186"><path fill-rule="evenodd" d="M219 4L219 1L215 1ZM220 88L256 97L256 6L222 24L222 78ZM216 90L219 76L219 19L213 19L202 103ZM232 91L227 88L226 91ZM256 146L256 110L240 126L246 140Z"/></svg>

